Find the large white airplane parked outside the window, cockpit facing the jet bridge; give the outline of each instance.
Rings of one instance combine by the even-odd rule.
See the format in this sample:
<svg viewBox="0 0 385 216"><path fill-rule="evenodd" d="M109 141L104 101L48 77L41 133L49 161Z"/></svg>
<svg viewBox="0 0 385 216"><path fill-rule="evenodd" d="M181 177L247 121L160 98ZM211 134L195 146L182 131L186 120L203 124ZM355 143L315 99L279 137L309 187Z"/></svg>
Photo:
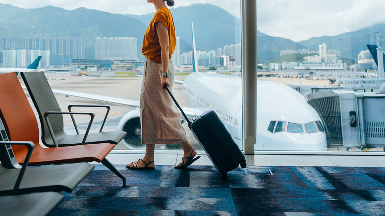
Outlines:
<svg viewBox="0 0 385 216"><path fill-rule="evenodd" d="M192 34L193 26L192 26ZM193 52L195 51L195 38ZM194 55L194 71L197 71ZM211 109L242 147L242 88L237 76L193 72L183 81L183 96L190 107L182 107L189 117ZM96 94L54 90L54 93L128 105L137 109L126 113L118 124L127 132L122 140L129 149L144 149L141 144L139 101ZM294 89L271 81L257 84L256 150L326 150L326 134L318 113Z"/></svg>

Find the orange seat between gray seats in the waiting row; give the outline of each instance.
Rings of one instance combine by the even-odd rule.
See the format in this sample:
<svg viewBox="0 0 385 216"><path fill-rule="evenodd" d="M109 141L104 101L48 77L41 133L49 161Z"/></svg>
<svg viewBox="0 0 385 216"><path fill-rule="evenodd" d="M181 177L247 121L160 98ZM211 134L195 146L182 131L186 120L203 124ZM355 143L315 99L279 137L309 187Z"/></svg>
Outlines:
<svg viewBox="0 0 385 216"><path fill-rule="evenodd" d="M16 73L0 74L0 118L11 141L31 141L35 144L30 166L74 162L101 162L123 180L125 177L105 157L114 144L99 143L65 147L44 148L39 144L39 128L35 114L28 102ZM24 146L12 146L16 160L23 163L27 154Z"/></svg>

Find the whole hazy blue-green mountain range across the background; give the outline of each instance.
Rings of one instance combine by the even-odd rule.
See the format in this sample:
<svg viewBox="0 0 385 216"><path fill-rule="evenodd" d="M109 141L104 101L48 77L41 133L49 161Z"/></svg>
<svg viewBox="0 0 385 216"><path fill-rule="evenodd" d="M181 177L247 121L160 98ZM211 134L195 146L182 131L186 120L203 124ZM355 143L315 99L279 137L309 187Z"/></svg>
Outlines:
<svg viewBox="0 0 385 216"><path fill-rule="evenodd" d="M180 37L181 53L192 49L191 22L194 23L197 49L210 51L241 42L240 19L220 7L193 4L171 8L171 13L176 36ZM11 48L16 49L23 48L24 38L81 37L84 39L85 58L92 59L96 37L136 37L138 58L143 59L140 54L143 34L153 15L111 14L86 8L65 10L52 6L23 9L0 4L0 38L11 38ZM318 51L319 44L326 43L328 49L341 48L342 57L354 59L359 51L367 49L366 44L375 44L374 32L384 30L385 24L377 24L354 32L299 42L258 31L257 56L261 61L270 61L279 57L281 50L309 48ZM338 39L341 39L340 44ZM385 39L380 41L383 43Z"/></svg>

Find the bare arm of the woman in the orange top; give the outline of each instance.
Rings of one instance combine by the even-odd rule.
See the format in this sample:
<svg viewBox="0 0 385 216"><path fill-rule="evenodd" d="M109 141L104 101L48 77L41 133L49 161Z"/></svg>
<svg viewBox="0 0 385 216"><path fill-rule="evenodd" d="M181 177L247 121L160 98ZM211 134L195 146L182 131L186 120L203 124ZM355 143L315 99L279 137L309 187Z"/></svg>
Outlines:
<svg viewBox="0 0 385 216"><path fill-rule="evenodd" d="M162 69L164 73L168 72L168 61L170 59L170 45L168 41L168 30L166 26L162 22L156 22L155 23L156 32L158 33L159 37L159 43L160 48L162 49ZM168 81L168 78L165 76L162 76L162 88L164 83L167 83L167 86L170 87L170 82ZM163 90L166 90L163 88Z"/></svg>

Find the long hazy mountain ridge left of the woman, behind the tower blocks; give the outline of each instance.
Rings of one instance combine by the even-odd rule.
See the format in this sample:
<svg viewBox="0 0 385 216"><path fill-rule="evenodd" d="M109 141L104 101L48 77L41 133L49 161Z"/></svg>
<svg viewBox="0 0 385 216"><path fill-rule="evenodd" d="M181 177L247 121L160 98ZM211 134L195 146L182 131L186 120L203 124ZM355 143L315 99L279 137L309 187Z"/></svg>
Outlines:
<svg viewBox="0 0 385 216"><path fill-rule="evenodd" d="M4 11L0 4L0 14ZM5 8L7 11L8 8ZM0 38L11 38L12 48L22 48L23 38L81 37L86 58L94 58L95 38L136 37L138 53L147 26L139 20L123 15L78 8L64 10L57 7L15 10L0 18Z"/></svg>

